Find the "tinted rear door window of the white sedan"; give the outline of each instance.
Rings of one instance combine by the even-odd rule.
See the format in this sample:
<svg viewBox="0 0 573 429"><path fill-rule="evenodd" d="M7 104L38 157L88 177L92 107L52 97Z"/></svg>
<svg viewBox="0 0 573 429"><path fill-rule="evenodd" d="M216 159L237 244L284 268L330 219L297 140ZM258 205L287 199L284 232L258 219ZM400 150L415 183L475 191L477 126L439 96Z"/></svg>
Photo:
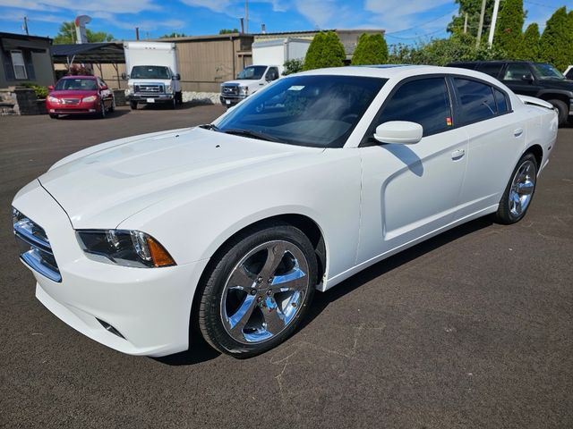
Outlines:
<svg viewBox="0 0 573 429"><path fill-rule="evenodd" d="M497 114L493 88L481 82L454 79L462 110L462 122L476 122Z"/></svg>

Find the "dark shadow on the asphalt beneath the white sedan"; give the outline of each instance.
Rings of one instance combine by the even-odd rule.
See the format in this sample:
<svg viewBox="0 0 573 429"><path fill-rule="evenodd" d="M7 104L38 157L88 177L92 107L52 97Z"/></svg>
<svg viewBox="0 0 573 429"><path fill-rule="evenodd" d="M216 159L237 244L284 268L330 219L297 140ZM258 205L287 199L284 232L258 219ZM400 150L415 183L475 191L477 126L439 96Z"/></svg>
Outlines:
<svg viewBox="0 0 573 429"><path fill-rule="evenodd" d="M344 297L347 293L363 286L363 284L370 282L385 273L389 273L393 269L413 261L417 257L421 257L426 253L432 252L432 250L440 248L451 241L458 240L461 237L475 231L480 231L491 225L492 220L490 220L489 217L482 217L475 221L465 223L452 230L442 232L440 235L430 240L423 241L412 248L403 250L393 257L384 259L383 261L366 268L362 272L356 273L344 282L339 283L331 290L327 290L324 293L315 293L309 313L304 317L299 330L303 329L307 324L310 324L312 320L314 320L316 316L320 315L331 302ZM218 356L220 356L220 353L211 348L210 345L203 340L200 332L193 332L192 344L189 350L166 357L151 358L169 366L187 366L199 364Z"/></svg>

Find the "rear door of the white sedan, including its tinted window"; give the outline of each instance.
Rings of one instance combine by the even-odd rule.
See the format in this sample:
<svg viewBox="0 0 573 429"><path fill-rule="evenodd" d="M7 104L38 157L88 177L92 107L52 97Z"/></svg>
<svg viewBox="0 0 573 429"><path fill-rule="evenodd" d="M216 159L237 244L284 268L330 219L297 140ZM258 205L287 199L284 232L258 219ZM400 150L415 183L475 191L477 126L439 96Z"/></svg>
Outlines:
<svg viewBox="0 0 573 429"><path fill-rule="evenodd" d="M508 94L488 82L452 77L459 125L467 131L466 179L457 216L491 211L500 202L526 139L526 122L511 111Z"/></svg>

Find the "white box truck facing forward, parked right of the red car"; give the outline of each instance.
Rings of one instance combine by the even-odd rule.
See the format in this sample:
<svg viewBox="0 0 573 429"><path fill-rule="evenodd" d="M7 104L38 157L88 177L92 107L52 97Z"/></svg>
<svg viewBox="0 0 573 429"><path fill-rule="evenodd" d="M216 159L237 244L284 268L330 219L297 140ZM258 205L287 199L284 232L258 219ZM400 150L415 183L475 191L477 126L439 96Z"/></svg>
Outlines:
<svg viewBox="0 0 573 429"><path fill-rule="evenodd" d="M127 100L138 104L163 103L175 108L183 103L177 72L175 43L125 42Z"/></svg>

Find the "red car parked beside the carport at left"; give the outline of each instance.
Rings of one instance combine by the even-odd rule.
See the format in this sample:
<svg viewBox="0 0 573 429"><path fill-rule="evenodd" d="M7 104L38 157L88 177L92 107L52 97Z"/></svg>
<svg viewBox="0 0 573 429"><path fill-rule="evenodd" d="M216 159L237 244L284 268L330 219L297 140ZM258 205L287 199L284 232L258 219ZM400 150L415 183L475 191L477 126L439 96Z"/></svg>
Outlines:
<svg viewBox="0 0 573 429"><path fill-rule="evenodd" d="M56 119L60 114L97 114L105 118L107 112L115 111L114 92L96 76L65 76L56 87L47 89L50 118Z"/></svg>

